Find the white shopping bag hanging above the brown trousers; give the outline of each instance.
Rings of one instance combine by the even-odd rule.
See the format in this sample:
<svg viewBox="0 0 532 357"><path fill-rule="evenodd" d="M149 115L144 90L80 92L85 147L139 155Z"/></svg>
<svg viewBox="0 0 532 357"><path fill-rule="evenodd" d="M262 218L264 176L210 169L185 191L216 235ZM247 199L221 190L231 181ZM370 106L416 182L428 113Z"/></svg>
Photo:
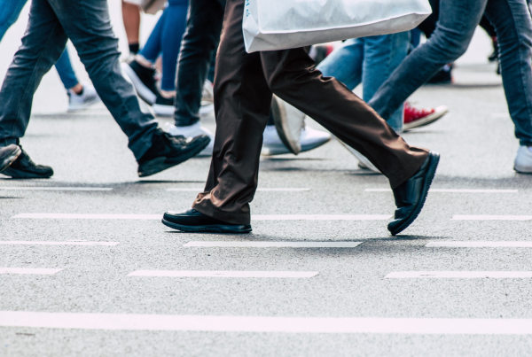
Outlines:
<svg viewBox="0 0 532 357"><path fill-rule="evenodd" d="M428 0L246 0L246 51L286 50L316 43L387 35L417 27Z"/></svg>

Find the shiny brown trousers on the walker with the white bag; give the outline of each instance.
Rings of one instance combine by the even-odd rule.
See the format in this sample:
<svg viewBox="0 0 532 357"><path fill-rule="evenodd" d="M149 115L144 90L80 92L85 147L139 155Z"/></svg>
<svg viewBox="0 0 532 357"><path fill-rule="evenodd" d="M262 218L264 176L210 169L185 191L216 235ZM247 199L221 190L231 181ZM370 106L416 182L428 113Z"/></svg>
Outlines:
<svg viewBox="0 0 532 357"><path fill-rule="evenodd" d="M216 57L215 148L205 192L194 209L221 221L249 224L272 92L361 152L392 188L418 171L427 151L406 144L346 86L324 78L304 49L247 53L244 2L228 0L225 8Z"/></svg>

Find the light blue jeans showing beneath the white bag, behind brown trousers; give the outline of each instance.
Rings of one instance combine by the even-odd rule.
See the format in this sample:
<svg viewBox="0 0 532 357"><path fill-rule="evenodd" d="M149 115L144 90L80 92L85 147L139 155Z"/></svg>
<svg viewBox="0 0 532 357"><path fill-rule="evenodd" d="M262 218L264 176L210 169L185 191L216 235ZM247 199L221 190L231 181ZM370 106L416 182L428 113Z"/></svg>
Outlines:
<svg viewBox="0 0 532 357"><path fill-rule="evenodd" d="M368 102L380 85L406 57L410 33L379 35L348 40L317 66L326 77L334 77L353 90L362 82L363 99ZM387 120L397 132L403 131L403 107Z"/></svg>

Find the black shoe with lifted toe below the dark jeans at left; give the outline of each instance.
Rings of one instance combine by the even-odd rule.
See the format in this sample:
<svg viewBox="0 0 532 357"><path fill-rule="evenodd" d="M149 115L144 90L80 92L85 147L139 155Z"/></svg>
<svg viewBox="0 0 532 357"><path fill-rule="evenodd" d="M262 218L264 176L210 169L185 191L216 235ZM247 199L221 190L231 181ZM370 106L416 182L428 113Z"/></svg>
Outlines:
<svg viewBox="0 0 532 357"><path fill-rule="evenodd" d="M160 128L153 134L152 147L138 160L138 176L146 177L181 164L200 153L210 142L207 135L170 136Z"/></svg>

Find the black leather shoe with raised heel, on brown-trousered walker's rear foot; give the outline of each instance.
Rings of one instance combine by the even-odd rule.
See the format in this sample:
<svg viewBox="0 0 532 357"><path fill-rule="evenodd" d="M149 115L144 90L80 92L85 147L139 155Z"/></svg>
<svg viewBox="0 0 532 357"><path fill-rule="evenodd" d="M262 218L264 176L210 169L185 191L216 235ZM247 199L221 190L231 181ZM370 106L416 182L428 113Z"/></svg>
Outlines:
<svg viewBox="0 0 532 357"><path fill-rule="evenodd" d="M419 171L394 189L395 218L388 224L392 236L402 232L418 217L425 204L426 194L436 174L440 154L430 151Z"/></svg>

